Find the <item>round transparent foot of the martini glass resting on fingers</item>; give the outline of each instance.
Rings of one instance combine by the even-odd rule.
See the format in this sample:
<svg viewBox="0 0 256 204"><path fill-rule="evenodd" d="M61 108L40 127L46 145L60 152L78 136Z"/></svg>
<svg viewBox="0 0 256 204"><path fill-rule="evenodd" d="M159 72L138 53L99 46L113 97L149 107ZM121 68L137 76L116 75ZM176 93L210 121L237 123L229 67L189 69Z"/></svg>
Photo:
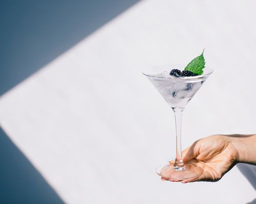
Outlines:
<svg viewBox="0 0 256 204"><path fill-rule="evenodd" d="M185 163L184 167L174 167L174 161L160 165L156 168L158 175L166 180L180 182L200 176L203 170L193 163Z"/></svg>

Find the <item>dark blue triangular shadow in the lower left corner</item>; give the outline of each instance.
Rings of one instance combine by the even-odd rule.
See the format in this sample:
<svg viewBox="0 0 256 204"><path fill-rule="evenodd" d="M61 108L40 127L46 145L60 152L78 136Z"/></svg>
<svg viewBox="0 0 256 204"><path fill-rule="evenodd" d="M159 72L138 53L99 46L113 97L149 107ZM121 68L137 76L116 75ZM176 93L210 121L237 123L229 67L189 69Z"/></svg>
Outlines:
<svg viewBox="0 0 256 204"><path fill-rule="evenodd" d="M2 128L0 144L2 203L65 203Z"/></svg>

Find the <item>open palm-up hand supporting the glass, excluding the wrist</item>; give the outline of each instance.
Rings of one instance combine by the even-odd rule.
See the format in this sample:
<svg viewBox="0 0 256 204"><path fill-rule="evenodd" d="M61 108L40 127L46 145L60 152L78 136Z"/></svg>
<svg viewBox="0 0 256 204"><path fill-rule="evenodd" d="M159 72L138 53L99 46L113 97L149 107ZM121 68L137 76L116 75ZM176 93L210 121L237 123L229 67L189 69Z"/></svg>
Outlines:
<svg viewBox="0 0 256 204"><path fill-rule="evenodd" d="M216 182L239 160L236 138L231 135L213 135L194 142L182 155L183 162L193 163L203 172L200 176L183 180L182 183L196 181Z"/></svg>

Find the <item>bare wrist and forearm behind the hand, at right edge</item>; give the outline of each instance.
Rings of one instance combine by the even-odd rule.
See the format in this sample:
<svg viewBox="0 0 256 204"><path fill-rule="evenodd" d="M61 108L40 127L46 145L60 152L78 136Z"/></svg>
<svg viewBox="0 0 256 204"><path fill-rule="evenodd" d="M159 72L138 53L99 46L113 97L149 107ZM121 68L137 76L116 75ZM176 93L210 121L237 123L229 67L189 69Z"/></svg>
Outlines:
<svg viewBox="0 0 256 204"><path fill-rule="evenodd" d="M256 135L233 135L238 162L256 165Z"/></svg>

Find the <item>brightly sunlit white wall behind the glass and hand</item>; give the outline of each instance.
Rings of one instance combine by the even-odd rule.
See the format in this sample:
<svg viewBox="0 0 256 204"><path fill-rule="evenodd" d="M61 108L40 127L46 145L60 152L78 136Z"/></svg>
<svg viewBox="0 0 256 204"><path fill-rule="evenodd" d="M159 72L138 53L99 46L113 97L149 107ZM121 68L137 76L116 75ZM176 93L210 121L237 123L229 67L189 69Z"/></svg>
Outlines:
<svg viewBox="0 0 256 204"><path fill-rule="evenodd" d="M234 167L217 183L162 182L172 110L141 71L205 48L214 73L183 117L183 147L255 133L254 1L142 1L0 98L0 122L67 203L247 203Z"/></svg>

